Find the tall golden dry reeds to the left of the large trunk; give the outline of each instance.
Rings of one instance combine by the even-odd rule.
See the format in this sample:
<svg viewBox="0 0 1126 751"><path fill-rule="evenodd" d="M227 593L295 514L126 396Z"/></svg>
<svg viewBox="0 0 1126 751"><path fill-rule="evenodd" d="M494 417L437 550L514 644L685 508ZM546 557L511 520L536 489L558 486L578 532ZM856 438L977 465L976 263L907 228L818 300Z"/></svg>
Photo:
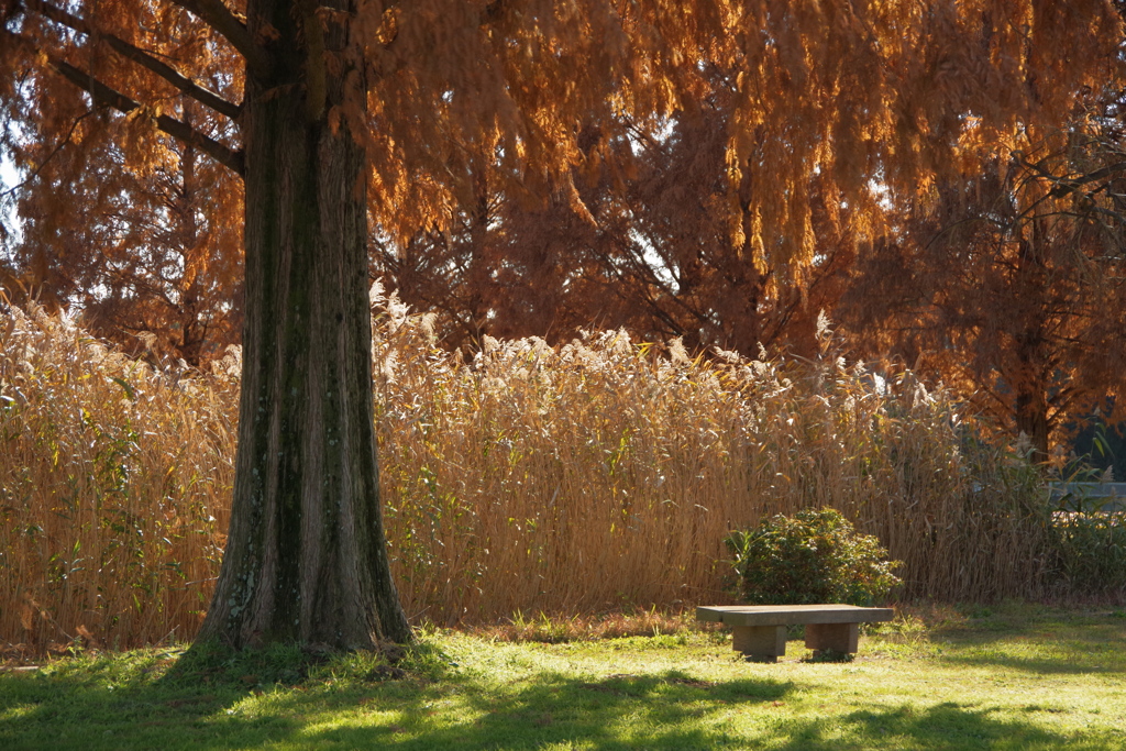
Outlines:
<svg viewBox="0 0 1126 751"><path fill-rule="evenodd" d="M0 318L0 642L195 633L236 393L229 374L177 382L42 311Z"/></svg>

